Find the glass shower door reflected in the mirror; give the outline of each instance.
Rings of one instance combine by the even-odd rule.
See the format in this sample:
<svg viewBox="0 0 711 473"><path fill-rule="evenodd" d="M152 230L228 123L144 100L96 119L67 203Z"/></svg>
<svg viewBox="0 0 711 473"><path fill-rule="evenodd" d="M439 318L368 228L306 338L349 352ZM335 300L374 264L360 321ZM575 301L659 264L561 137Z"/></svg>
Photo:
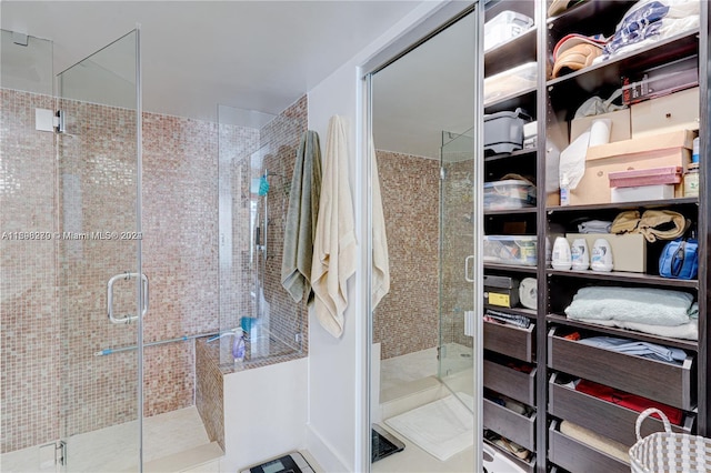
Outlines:
<svg viewBox="0 0 711 473"><path fill-rule="evenodd" d="M474 142L442 132L439 378L473 411Z"/></svg>

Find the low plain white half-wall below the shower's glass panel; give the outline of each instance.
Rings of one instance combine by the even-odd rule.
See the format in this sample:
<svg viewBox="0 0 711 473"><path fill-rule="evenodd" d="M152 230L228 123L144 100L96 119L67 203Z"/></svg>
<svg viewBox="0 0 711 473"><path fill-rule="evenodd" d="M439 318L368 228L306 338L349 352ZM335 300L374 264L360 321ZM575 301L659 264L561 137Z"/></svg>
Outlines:
<svg viewBox="0 0 711 473"><path fill-rule="evenodd" d="M220 471L244 466L306 446L307 359L223 378L224 457Z"/></svg>

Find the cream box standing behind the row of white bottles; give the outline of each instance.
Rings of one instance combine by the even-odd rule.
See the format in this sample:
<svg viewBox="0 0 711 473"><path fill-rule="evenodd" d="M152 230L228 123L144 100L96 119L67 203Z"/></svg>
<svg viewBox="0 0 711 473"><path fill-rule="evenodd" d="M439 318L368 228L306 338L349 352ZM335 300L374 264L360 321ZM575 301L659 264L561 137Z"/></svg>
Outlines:
<svg viewBox="0 0 711 473"><path fill-rule="evenodd" d="M595 240L603 238L612 249L612 271L628 271L632 273L647 272L647 240L641 233L615 235L611 233L565 233L570 244L579 238L584 238L588 251L592 252Z"/></svg>

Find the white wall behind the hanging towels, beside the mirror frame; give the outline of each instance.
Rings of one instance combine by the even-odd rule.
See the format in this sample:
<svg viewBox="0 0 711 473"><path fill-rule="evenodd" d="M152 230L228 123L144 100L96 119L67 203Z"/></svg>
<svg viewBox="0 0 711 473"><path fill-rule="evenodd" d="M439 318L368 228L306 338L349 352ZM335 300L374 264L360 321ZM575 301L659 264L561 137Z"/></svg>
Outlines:
<svg viewBox="0 0 711 473"><path fill-rule="evenodd" d="M361 143L364 123L364 88L360 66L412 27L439 9L443 2L425 1L394 24L385 34L309 91L309 129L326 147L329 119L347 118L350 123L350 181L354 201L359 244L358 271L349 281L349 306L343 335L334 339L318 320L309 319L309 423L307 447L327 472L364 472L363 443L370 441L367 403L368 288L364 252L369 230L364 227L367 179ZM365 464L364 464L365 463Z"/></svg>

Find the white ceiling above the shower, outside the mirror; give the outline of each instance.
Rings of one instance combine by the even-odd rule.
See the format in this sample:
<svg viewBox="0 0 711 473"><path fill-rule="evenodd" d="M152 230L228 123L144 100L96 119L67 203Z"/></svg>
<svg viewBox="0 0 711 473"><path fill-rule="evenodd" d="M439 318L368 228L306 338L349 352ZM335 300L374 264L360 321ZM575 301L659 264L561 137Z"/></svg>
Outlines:
<svg viewBox="0 0 711 473"><path fill-rule="evenodd" d="M143 109L216 120L279 113L420 3L3 0L0 24L51 40L56 74L139 23Z"/></svg>

